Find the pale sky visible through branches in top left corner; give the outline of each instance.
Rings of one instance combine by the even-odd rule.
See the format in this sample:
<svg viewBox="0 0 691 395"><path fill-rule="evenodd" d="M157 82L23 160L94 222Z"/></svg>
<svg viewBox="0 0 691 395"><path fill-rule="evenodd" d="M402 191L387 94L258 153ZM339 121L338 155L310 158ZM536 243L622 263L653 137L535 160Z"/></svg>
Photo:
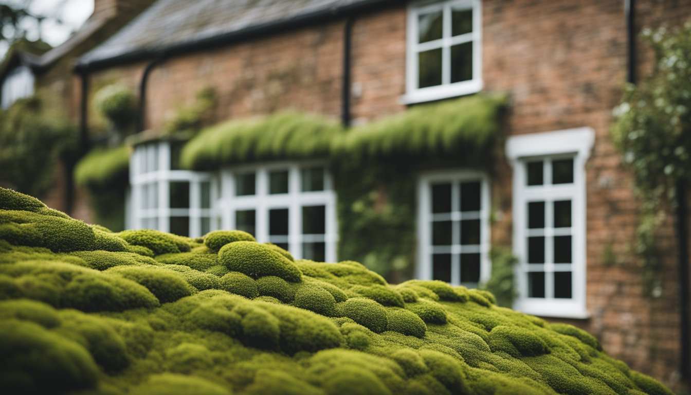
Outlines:
<svg viewBox="0 0 691 395"><path fill-rule="evenodd" d="M11 6L29 4L29 12L33 15L46 16L40 31L35 21L29 19L22 27L27 30L29 39L40 37L54 47L65 42L93 12L93 0L0 0L0 3ZM7 47L5 42L0 42L0 58L5 56Z"/></svg>

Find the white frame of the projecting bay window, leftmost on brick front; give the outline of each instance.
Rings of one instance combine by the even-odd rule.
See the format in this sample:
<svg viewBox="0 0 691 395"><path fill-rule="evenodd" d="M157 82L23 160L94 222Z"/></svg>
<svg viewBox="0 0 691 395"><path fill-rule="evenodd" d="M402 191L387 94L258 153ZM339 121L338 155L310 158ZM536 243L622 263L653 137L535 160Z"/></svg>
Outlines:
<svg viewBox="0 0 691 395"><path fill-rule="evenodd" d="M170 232L170 217L189 217L189 237L202 236L201 219L209 218L209 230L214 230L214 196L216 183L209 172L171 169L171 142L167 140L144 143L135 147L130 157L131 201L127 214L131 227L135 229L152 228L146 226L146 219L158 219L157 230ZM148 169L147 169L148 167ZM182 181L189 183L189 208L170 208L170 183ZM201 183L209 182L209 208L201 208ZM142 207L144 187L155 185L158 200L155 208Z"/></svg>

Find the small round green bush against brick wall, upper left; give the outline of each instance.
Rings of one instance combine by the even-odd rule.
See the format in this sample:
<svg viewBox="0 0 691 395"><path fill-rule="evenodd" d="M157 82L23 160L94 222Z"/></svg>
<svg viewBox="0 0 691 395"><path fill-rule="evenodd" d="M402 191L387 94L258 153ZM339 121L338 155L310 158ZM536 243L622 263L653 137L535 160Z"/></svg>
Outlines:
<svg viewBox="0 0 691 395"><path fill-rule="evenodd" d="M137 115L137 99L133 91L126 86L106 85L96 92L93 100L96 109L115 129L123 131L134 122Z"/></svg>

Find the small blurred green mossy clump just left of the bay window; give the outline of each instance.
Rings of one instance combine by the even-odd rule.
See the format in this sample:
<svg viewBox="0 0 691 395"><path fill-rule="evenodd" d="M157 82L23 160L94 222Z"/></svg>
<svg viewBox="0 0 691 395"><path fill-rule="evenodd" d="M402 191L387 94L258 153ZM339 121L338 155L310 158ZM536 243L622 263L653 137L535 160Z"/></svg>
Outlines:
<svg viewBox="0 0 691 395"><path fill-rule="evenodd" d="M96 148L79 160L75 181L82 186L103 186L115 180L126 180L129 174L130 149L125 145Z"/></svg>

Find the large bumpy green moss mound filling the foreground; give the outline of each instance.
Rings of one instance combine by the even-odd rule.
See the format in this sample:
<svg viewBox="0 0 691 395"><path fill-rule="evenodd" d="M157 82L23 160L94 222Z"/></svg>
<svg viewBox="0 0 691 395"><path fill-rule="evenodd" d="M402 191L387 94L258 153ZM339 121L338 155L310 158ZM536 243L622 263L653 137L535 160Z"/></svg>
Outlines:
<svg viewBox="0 0 691 395"><path fill-rule="evenodd" d="M3 394L671 394L485 291L238 232L113 233L4 189L0 355Z"/></svg>

